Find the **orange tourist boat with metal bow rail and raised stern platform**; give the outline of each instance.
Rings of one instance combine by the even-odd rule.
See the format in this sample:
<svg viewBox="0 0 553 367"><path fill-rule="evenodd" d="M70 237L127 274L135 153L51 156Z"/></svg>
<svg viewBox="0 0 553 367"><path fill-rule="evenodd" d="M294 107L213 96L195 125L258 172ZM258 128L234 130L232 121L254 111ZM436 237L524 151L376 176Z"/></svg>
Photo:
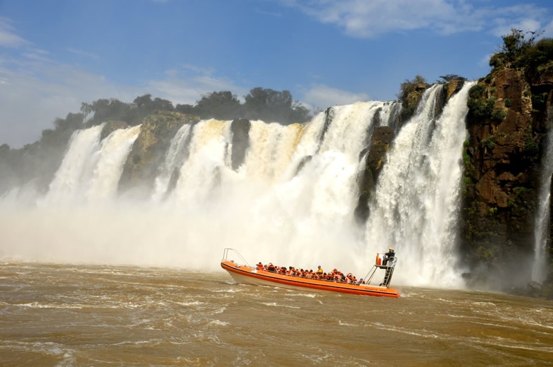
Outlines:
<svg viewBox="0 0 553 367"><path fill-rule="evenodd" d="M229 255L234 254L242 261L241 264L229 259ZM400 297L400 292L388 288L392 279L393 270L397 258L393 258L386 265L382 265L382 254L377 254L377 260L372 269L364 278L364 283L343 283L339 281L326 281L323 279L308 279L301 276L290 276L270 272L268 270L259 270L255 266L247 265L243 257L234 249L226 248L223 252L221 267L229 272L230 276L237 282L251 285L268 285L272 287L281 287L304 291L328 291L348 294L362 294L366 296L379 297ZM379 285L371 285L371 280L377 270L384 270L384 280ZM363 280L363 279L361 279Z"/></svg>

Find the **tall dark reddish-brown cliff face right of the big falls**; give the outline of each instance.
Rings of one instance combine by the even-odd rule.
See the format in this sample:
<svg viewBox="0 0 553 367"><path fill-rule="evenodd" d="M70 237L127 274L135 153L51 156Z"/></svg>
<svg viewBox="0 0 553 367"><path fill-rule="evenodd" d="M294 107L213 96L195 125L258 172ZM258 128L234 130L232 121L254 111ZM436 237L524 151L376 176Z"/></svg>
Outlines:
<svg viewBox="0 0 553 367"><path fill-rule="evenodd" d="M553 84L532 84L524 69L494 69L469 93L461 247L473 270L503 276L518 263L527 269L519 278L529 278L548 129L534 89L546 90L550 106Z"/></svg>

